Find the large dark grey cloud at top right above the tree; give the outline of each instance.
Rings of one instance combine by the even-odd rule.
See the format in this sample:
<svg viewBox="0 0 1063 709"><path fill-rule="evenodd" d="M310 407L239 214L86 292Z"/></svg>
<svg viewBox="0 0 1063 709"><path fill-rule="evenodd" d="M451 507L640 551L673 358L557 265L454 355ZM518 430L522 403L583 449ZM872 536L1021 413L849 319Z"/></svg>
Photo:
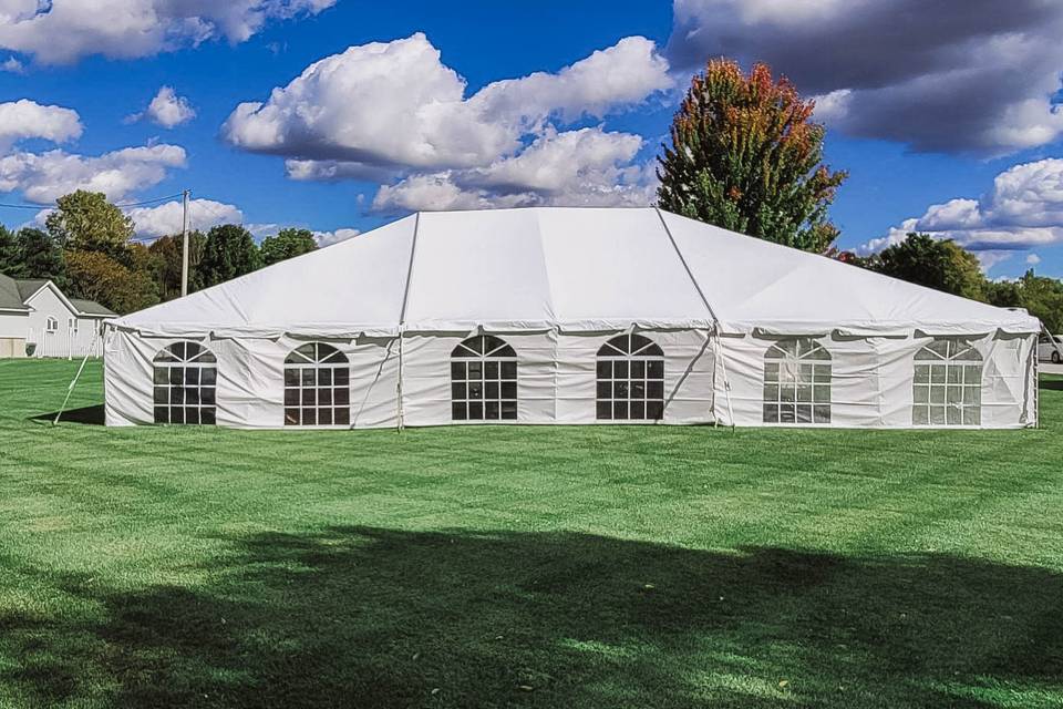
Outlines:
<svg viewBox="0 0 1063 709"><path fill-rule="evenodd" d="M845 133L1002 154L1063 134L1063 3L674 0L667 55L766 61Z"/></svg>

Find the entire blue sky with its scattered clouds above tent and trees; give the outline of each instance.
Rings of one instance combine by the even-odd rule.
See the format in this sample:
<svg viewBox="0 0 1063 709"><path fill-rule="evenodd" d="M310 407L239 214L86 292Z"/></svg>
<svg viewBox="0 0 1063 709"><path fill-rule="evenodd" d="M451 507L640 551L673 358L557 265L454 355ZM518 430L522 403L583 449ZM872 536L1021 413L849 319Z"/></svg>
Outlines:
<svg viewBox="0 0 1063 709"><path fill-rule="evenodd" d="M832 209L842 246L881 247L919 228L973 246L993 277L1031 264L1063 276L1063 52L1053 39L1063 11L1036 0L972 0L961 29L922 11L910 30L915 0L875 11L839 0L571 1L534 12L487 0L236 0L194 17L161 0L54 0L43 11L7 2L22 9L6 16L0 2L0 202L101 185L137 202L187 187L216 203L194 212L197 226L237 218L261 236L297 225L323 242L411 208L644 203L679 92L725 53L768 61L821 96L827 162L850 173ZM115 12L140 14L120 22ZM877 31L894 21L902 34ZM343 54L370 43L379 51ZM821 47L829 51L809 50ZM270 101L327 58L328 72ZM389 75L386 62L395 71L381 82L373 72ZM526 81L534 72L545 79ZM455 99L456 76L466 86ZM163 86L195 116L174 105L144 114ZM20 100L34 106L4 114ZM407 120L437 101L448 102L442 116ZM245 102L266 106L234 120ZM144 152L94 160L131 147ZM293 178L286 160L309 172ZM343 178L322 179L328 169ZM134 214L144 238L173 224L172 208L152 207ZM11 226L33 218L0 210Z"/></svg>

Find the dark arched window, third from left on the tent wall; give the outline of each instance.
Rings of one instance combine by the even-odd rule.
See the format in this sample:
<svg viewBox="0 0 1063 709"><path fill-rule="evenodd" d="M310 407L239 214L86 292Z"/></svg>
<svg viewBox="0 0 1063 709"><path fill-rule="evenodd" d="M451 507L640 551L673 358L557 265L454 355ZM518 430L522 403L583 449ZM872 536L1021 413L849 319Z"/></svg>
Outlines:
<svg viewBox="0 0 1063 709"><path fill-rule="evenodd" d="M454 421L516 421L517 353L491 335L473 337L451 352Z"/></svg>

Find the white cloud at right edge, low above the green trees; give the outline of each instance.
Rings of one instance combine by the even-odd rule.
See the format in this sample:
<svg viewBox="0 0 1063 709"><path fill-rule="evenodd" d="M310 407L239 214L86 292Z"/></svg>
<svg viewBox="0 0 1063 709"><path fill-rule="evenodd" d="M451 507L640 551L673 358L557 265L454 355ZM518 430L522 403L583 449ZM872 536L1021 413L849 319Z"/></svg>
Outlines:
<svg viewBox="0 0 1063 709"><path fill-rule="evenodd" d="M980 198L931 205L921 217L906 219L858 250L878 251L902 242L909 232L953 239L976 251L983 265L1015 251L1063 244L1063 160L1010 167Z"/></svg>

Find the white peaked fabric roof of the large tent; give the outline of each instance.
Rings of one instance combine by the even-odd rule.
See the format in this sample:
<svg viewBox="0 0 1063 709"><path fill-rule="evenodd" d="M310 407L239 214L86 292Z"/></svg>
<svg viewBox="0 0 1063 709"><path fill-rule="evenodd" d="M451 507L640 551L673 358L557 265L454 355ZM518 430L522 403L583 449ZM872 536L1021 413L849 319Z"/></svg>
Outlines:
<svg viewBox="0 0 1063 709"><path fill-rule="evenodd" d="M162 336L560 328L1035 332L994 308L648 208L421 213L112 320Z"/></svg>

